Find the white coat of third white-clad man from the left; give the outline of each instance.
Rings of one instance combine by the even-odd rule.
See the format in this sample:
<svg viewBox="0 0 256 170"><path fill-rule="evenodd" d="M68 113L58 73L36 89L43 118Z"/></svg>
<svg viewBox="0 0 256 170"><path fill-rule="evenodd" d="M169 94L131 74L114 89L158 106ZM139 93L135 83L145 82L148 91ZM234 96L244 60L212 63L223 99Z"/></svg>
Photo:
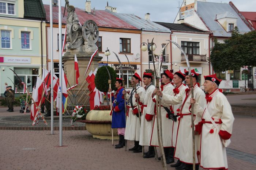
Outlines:
<svg viewBox="0 0 256 170"><path fill-rule="evenodd" d="M174 86L171 83L163 85L163 91L162 93L165 94L172 94L174 89ZM157 96L155 95L153 97L153 101L156 102ZM166 117L166 110L163 108L167 107L170 109L171 104L163 104L161 103L161 120L162 120L162 137L163 137L163 147L171 147L172 146L172 127L173 127L173 121L172 119L168 119ZM154 117L154 126L152 130L151 135L151 146L159 146L158 144L158 136L157 136L157 115Z"/></svg>

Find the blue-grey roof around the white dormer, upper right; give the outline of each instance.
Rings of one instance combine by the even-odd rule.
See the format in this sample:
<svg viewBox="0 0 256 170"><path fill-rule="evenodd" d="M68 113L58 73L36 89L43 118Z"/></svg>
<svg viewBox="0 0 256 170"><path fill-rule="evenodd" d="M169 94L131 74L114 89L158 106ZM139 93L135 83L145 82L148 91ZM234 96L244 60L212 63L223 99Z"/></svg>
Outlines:
<svg viewBox="0 0 256 170"><path fill-rule="evenodd" d="M240 33L243 34L251 31L230 4L197 1L197 13L203 19L204 23L206 23L207 27L210 28L213 35L230 37L231 33L226 32L225 29L217 21L215 21L216 15L223 12L229 12L236 16L237 27Z"/></svg>

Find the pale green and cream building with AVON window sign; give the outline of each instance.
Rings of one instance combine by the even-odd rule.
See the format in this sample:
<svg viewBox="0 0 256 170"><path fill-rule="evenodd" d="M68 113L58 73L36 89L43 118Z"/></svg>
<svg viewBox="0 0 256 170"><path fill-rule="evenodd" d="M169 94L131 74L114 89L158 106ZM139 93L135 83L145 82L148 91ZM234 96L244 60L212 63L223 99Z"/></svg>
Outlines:
<svg viewBox="0 0 256 170"><path fill-rule="evenodd" d="M0 90L5 92L7 82L14 89L23 91L36 83L46 64L45 11L42 1L0 1ZM19 78L10 70L14 70Z"/></svg>

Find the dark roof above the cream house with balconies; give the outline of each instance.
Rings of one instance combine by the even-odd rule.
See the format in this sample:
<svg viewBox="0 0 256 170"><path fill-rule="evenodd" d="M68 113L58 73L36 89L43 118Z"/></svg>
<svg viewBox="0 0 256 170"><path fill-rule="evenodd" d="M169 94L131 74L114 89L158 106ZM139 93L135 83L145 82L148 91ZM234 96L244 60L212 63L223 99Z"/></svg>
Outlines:
<svg viewBox="0 0 256 170"><path fill-rule="evenodd" d="M165 23L165 22L155 22L157 24L160 24L166 28L168 28L171 31L188 31L188 32L206 32L203 30L199 30L195 27L189 26L187 24L174 24L174 23Z"/></svg>

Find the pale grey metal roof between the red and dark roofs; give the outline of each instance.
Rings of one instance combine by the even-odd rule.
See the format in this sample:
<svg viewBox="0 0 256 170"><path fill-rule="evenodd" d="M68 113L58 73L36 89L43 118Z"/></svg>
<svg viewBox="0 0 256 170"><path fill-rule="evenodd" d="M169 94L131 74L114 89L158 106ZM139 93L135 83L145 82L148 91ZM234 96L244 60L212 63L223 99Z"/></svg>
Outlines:
<svg viewBox="0 0 256 170"><path fill-rule="evenodd" d="M124 20L125 22L127 22L127 23L133 25L134 27L137 27L143 31L170 33L169 29L167 29L157 23L154 23L150 20L145 20L145 19L139 18L138 16L136 16L134 14L116 13L116 12L111 12L108 9L105 9L105 11L113 14L114 16L120 18L121 20Z"/></svg>

